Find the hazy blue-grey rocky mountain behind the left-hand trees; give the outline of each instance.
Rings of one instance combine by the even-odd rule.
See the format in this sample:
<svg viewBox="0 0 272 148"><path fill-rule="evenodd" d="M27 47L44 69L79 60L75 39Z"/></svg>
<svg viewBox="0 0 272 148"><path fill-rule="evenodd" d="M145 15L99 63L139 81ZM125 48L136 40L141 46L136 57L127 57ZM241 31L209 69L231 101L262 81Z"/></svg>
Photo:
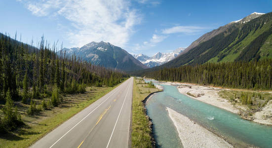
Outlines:
<svg viewBox="0 0 272 148"><path fill-rule="evenodd" d="M75 54L82 60L106 68L122 71L137 71L147 69L140 61L131 56L124 49L109 42L91 42L81 48L64 48L67 55Z"/></svg>

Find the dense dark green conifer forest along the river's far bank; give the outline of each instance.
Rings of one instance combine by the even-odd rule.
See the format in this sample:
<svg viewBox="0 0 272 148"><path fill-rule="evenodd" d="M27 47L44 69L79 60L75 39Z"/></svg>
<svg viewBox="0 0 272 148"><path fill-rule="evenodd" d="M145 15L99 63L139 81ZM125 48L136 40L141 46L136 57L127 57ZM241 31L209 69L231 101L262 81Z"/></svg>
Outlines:
<svg viewBox="0 0 272 148"><path fill-rule="evenodd" d="M257 90L272 89L272 59L251 62L205 63L163 68L144 74L164 81L189 82Z"/></svg>

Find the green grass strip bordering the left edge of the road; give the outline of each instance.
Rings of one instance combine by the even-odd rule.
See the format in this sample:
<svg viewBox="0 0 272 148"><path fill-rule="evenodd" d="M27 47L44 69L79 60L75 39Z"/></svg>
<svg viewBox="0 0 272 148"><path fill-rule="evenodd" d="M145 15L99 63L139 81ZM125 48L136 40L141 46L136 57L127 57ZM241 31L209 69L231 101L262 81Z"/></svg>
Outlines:
<svg viewBox="0 0 272 148"><path fill-rule="evenodd" d="M59 107L41 111L38 115L34 116L28 116L25 113L28 109L27 106L29 105L23 105L20 102L16 102L15 104L22 113L22 119L26 123L26 126L16 131L0 135L0 148L29 147L45 134L91 105L117 86L91 87L91 89L90 87L87 87L84 94L66 95L63 97L63 103L61 103ZM42 100L34 101L36 104L39 104ZM0 113L2 114L1 111Z"/></svg>

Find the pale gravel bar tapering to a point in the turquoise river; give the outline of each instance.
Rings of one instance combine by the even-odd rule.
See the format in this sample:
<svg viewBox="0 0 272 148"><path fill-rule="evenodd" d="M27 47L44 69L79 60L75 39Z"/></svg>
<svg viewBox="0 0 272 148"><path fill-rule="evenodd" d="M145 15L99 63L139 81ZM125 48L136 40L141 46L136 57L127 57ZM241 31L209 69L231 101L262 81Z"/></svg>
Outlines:
<svg viewBox="0 0 272 148"><path fill-rule="evenodd" d="M224 139L198 125L188 117L166 108L184 148L233 148Z"/></svg>

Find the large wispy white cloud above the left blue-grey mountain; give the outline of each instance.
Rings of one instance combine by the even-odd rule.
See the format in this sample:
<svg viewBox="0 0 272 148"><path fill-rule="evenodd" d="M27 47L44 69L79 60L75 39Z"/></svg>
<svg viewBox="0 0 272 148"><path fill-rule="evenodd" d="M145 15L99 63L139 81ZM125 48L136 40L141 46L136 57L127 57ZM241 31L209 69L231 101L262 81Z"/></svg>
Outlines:
<svg viewBox="0 0 272 148"><path fill-rule="evenodd" d="M77 47L91 41L124 46L141 16L127 0L21 0L36 16L65 18L59 23ZM69 28L69 29L67 29Z"/></svg>

